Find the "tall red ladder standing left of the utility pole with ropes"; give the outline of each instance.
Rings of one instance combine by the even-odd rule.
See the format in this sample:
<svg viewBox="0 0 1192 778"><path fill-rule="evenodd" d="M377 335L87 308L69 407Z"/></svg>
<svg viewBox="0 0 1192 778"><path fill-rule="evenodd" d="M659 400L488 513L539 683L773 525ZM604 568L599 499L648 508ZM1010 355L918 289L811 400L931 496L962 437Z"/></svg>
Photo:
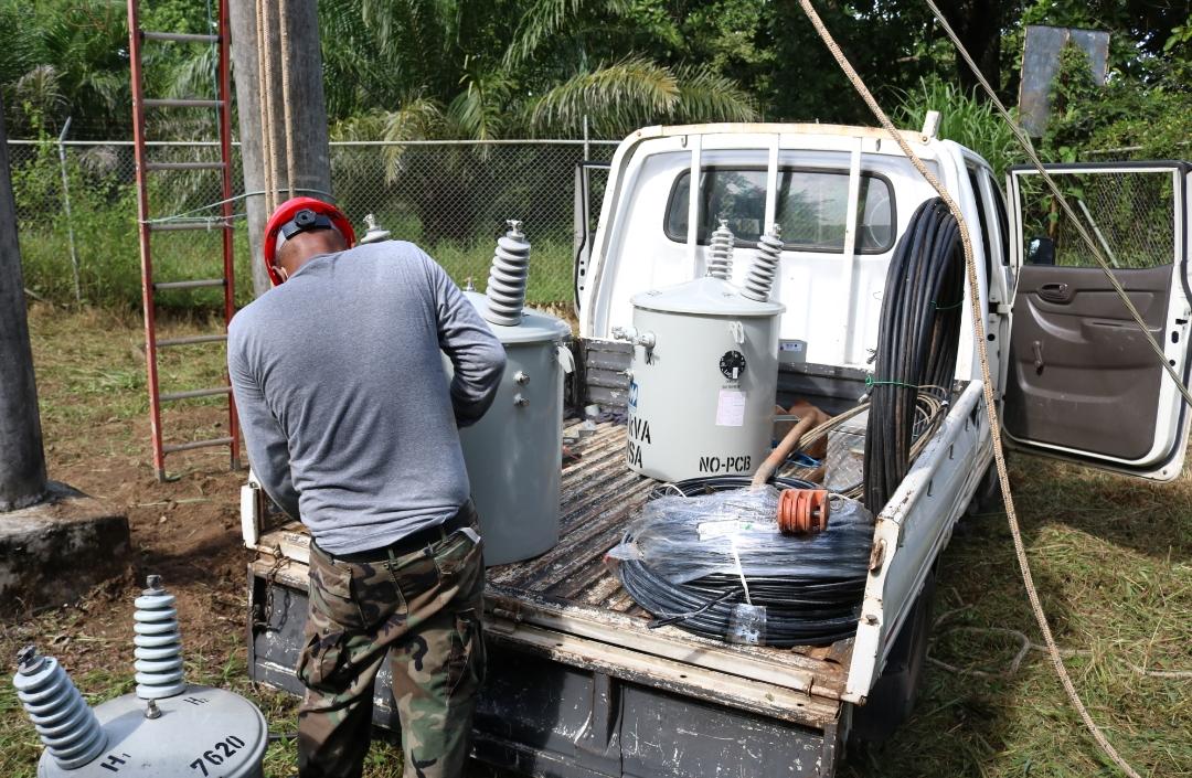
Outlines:
<svg viewBox="0 0 1192 778"><path fill-rule="evenodd" d="M231 467L240 467L240 427L236 421L236 404L231 387L191 388L162 392L157 384L157 351L163 348L187 347L203 343L226 343L228 322L235 313L235 276L232 269L232 189L231 189L231 81L229 69L228 0L219 2L219 33L191 35L174 32L149 32L141 29L137 0L129 2L129 60L132 66L132 137L137 164L137 226L141 235L141 284L145 319L145 365L149 384L149 413L153 434L153 460L159 480L166 479L166 455L197 448L226 446L231 454ZM219 50L218 95L215 100L145 98L143 93L141 46L145 43L174 42L217 44ZM218 162L150 162L145 148L145 110L148 108L216 108L219 117ZM149 219L149 191L147 179L161 170L219 170L222 176L221 219L210 222L161 222ZM223 273L218 278L201 280L154 280L150 245L155 232L173 230L209 230L223 232ZM157 292L166 290L197 290L223 287L224 329L211 335L159 338L156 329ZM226 379L225 379L226 380ZM161 409L163 403L188 400L199 397L224 396L228 398L228 435L211 440L191 440L166 443L162 437Z"/></svg>

